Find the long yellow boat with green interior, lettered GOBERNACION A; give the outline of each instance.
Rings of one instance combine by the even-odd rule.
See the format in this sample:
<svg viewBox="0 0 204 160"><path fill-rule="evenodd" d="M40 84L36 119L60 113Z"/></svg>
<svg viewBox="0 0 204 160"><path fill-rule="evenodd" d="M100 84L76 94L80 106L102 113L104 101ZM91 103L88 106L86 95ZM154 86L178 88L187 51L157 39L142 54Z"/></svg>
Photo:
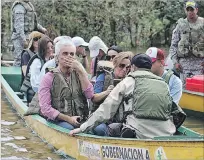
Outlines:
<svg viewBox="0 0 204 160"><path fill-rule="evenodd" d="M9 67L10 68L10 67ZM18 85L18 72L12 75L8 68L2 68L1 85L12 106L42 139L59 151L80 160L90 159L203 159L204 137L184 126L175 136L153 139L122 139L99 137L89 134L68 135L69 130L47 122L39 115L23 117L27 110L25 103L17 96L14 85ZM6 76L10 75L9 78ZM17 75L16 75L17 74ZM12 83L13 81L13 83ZM7 83L8 82L8 83ZM15 82L15 83L14 83ZM12 87L12 88L11 88ZM16 89L17 90L17 89Z"/></svg>

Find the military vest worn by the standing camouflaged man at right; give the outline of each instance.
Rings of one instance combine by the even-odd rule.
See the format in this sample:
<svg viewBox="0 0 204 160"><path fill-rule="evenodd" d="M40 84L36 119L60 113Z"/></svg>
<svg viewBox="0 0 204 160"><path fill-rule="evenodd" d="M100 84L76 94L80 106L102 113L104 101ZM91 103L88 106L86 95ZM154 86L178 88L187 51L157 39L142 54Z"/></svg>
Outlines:
<svg viewBox="0 0 204 160"><path fill-rule="evenodd" d="M195 23L187 19L178 20L181 39L178 43L178 57L204 57L204 19L198 17Z"/></svg>

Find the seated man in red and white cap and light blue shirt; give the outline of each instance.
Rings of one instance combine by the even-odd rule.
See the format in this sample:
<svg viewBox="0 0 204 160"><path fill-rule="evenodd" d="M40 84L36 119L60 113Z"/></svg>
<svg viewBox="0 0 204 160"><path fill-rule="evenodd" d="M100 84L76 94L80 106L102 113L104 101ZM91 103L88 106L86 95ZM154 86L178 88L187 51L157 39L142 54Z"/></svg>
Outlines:
<svg viewBox="0 0 204 160"><path fill-rule="evenodd" d="M152 73L166 81L169 86L170 96L178 104L182 96L182 82L174 75L172 70L164 70L164 51L156 47L150 47L146 54L152 59Z"/></svg>

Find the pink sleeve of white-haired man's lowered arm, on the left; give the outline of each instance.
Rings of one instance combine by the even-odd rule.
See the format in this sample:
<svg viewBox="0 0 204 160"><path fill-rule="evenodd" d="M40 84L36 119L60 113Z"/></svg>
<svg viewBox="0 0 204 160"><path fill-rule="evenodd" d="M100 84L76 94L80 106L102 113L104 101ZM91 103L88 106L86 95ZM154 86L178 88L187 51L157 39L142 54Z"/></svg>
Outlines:
<svg viewBox="0 0 204 160"><path fill-rule="evenodd" d="M52 87L52 81L53 74L51 72L43 76L39 86L38 98L42 114L49 119L54 120L60 112L54 109L51 105L50 90Z"/></svg>

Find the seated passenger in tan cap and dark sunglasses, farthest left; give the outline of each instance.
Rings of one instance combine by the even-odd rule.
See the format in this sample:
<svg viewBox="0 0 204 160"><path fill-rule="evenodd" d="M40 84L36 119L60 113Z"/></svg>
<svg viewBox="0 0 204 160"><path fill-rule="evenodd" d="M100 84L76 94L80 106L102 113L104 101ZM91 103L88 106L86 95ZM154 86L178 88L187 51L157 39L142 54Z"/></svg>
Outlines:
<svg viewBox="0 0 204 160"><path fill-rule="evenodd" d="M37 53L38 51L38 40L42 37L42 33L33 31L29 35L29 44L28 48L23 50L21 53L21 69L22 69L22 76L24 79L24 76L26 75L26 69L27 69L27 64L29 60L31 59L34 54Z"/></svg>

